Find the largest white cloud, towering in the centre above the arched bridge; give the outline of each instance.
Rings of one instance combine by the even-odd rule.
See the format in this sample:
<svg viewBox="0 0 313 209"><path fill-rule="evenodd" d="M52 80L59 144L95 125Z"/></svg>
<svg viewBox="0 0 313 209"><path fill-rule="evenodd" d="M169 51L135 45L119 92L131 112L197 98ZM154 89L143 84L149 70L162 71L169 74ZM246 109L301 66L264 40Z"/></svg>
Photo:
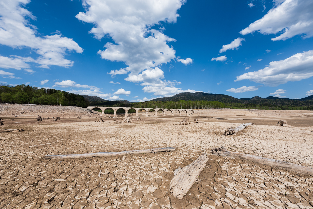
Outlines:
<svg viewBox="0 0 313 209"><path fill-rule="evenodd" d="M164 86L167 83L161 80L164 72L159 67L176 58L175 49L169 45L169 42L176 40L163 33L165 28L156 30L151 27L162 21L176 23L179 17L177 10L185 2L83 0L86 11L77 14L76 18L94 25L90 33L95 38L112 38L114 43L106 43L105 50L99 50L98 54L102 59L123 62L127 67L111 70L108 74L128 74L126 81L145 82L153 84L155 88L157 84ZM180 62L190 64L192 59L181 59Z"/></svg>

